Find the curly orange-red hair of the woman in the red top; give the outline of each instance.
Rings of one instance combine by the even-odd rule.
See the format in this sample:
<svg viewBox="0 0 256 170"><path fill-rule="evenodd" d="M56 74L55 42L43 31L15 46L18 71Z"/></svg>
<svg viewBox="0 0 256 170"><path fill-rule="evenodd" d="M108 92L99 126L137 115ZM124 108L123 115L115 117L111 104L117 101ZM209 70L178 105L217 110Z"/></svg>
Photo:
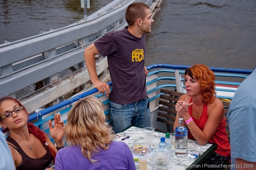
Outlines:
<svg viewBox="0 0 256 170"><path fill-rule="evenodd" d="M199 82L204 105L212 103L215 100L215 74L211 69L204 64L196 64L187 68L184 73L184 78L186 75Z"/></svg>

